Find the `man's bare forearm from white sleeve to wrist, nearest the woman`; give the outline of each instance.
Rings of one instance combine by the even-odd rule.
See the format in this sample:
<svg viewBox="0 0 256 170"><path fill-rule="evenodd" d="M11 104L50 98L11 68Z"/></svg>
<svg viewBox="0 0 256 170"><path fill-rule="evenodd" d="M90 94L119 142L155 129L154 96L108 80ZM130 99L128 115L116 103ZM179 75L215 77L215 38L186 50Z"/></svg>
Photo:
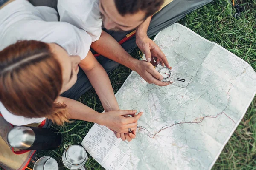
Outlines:
<svg viewBox="0 0 256 170"><path fill-rule="evenodd" d="M138 60L131 57L131 55L128 54L128 52L126 52L125 49L122 48L122 46L105 31L102 31L102 35L99 40L92 43L91 48L102 56L125 65L132 70L136 68L135 65Z"/></svg>

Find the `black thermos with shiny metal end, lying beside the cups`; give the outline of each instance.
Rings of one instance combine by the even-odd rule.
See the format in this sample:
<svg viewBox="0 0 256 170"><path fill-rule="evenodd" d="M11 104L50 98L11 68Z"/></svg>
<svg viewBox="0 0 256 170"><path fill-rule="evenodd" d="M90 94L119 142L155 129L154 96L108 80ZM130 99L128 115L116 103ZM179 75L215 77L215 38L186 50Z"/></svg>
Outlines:
<svg viewBox="0 0 256 170"><path fill-rule="evenodd" d="M50 129L16 126L8 133L7 141L17 149L50 150L61 145L62 136Z"/></svg>

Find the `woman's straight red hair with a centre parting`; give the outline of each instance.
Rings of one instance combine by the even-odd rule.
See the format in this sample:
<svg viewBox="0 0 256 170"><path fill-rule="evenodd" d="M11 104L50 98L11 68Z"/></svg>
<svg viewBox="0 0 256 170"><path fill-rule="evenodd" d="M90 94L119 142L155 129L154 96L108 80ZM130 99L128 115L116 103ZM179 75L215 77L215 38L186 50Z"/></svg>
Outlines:
<svg viewBox="0 0 256 170"><path fill-rule="evenodd" d="M61 65L47 43L18 41L0 51L0 101L11 113L67 122L66 105L55 102L62 82Z"/></svg>

